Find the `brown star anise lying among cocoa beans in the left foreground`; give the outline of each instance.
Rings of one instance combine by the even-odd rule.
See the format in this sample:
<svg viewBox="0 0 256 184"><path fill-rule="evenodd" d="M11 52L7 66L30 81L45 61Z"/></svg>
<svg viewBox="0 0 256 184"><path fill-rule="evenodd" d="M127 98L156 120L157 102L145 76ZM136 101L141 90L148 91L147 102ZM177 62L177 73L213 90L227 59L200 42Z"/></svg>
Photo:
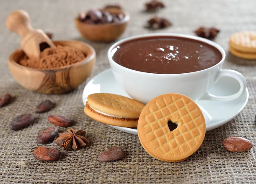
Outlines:
<svg viewBox="0 0 256 184"><path fill-rule="evenodd" d="M79 130L75 133L74 129L69 129L68 132L59 133L59 137L53 141L63 150L70 151L71 148L76 150L79 147L84 147L89 144L89 140L85 138L85 131Z"/></svg>

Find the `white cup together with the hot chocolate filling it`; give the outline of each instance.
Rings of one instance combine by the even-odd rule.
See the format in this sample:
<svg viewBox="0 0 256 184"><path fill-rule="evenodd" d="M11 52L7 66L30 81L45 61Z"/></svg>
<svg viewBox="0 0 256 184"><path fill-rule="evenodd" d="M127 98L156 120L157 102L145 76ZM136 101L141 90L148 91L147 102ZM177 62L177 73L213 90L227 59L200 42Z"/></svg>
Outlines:
<svg viewBox="0 0 256 184"><path fill-rule="evenodd" d="M166 93L186 95L193 101L232 101L246 89L239 72L221 69L225 52L218 44L196 36L156 33L128 37L114 43L108 60L117 83L137 101L148 103ZM240 84L233 95L209 93L222 77Z"/></svg>

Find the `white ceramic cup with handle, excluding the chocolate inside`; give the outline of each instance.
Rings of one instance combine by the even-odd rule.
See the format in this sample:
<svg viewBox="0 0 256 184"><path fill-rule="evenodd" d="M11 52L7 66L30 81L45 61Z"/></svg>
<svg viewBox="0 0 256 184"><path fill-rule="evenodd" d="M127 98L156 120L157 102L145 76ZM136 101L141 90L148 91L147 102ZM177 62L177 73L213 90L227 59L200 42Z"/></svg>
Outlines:
<svg viewBox="0 0 256 184"><path fill-rule="evenodd" d="M217 48L221 52L222 59L218 64L210 68L182 74L155 74L139 72L125 68L112 59L114 53L113 49L116 46L119 46L128 40L152 36L175 36L199 40ZM239 98L246 89L246 80L239 72L230 69L221 69L225 56L226 54L222 47L210 40L191 35L173 33L153 33L128 37L114 43L108 50L108 60L117 83L122 86L122 89L124 89L131 98L142 103L148 103L151 99L166 93L179 93L186 95L193 101L198 101L199 99L232 101ZM217 96L210 94L209 89L214 86L214 83L217 82L218 79L224 76L235 78L240 83L239 91L229 96Z"/></svg>

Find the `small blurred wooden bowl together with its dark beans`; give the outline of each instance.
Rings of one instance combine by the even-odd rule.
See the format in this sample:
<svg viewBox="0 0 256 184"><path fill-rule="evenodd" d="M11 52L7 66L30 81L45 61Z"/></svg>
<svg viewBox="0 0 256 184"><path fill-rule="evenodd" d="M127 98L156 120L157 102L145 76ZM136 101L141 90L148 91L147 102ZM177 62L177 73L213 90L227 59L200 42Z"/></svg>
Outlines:
<svg viewBox="0 0 256 184"><path fill-rule="evenodd" d="M117 8L81 12L75 19L77 30L88 40L110 42L122 35L130 16Z"/></svg>

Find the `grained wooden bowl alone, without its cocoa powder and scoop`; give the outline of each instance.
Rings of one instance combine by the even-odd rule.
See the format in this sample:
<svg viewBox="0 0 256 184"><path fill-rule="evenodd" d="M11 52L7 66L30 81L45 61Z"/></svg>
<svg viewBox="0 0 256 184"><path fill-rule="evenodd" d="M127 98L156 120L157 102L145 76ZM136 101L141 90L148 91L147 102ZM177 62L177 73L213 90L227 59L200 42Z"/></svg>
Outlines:
<svg viewBox="0 0 256 184"><path fill-rule="evenodd" d="M39 93L59 94L75 89L90 75L96 59L92 46L71 40L53 41L53 43L79 49L86 55L86 58L73 65L58 69L33 69L17 63L24 55L21 49L17 49L9 56L8 66L13 77L21 86Z"/></svg>

